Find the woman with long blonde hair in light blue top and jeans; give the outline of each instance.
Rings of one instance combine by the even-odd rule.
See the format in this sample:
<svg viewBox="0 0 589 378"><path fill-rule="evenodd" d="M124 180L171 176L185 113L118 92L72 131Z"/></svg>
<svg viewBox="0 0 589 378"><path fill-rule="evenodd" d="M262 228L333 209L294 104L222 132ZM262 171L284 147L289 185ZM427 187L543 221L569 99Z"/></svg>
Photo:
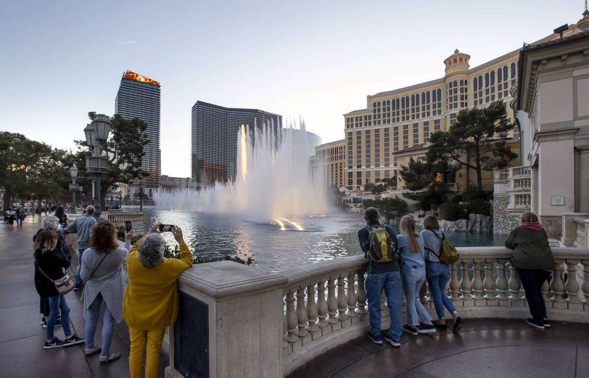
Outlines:
<svg viewBox="0 0 589 378"><path fill-rule="evenodd" d="M415 221L409 215L401 218L400 228L401 235L397 235L397 241L403 264L401 281L407 309L407 324L403 326L403 331L413 335L432 333L436 331L432 317L425 310L423 304L417 300L417 294L425 282L423 238L415 231ZM423 321L422 326L419 326L418 314Z"/></svg>

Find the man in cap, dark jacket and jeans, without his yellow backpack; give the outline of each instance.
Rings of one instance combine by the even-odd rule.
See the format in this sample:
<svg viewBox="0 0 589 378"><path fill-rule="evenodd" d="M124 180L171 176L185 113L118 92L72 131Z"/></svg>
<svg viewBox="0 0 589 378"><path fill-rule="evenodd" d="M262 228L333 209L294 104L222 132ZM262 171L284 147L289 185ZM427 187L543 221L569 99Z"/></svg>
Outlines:
<svg viewBox="0 0 589 378"><path fill-rule="evenodd" d="M370 322L370 340L376 344L382 344L380 335L380 294L385 290L386 304L391 313L391 327L388 333L382 336L392 346L400 346L399 337L402 333L402 316L401 316L401 269L396 259L388 263L377 263L368 256L370 247L369 228L380 226L384 227L386 232L391 236L392 245L396 250L397 238L395 231L391 226L382 226L378 221L380 215L378 210L374 207L369 207L364 211L364 219L366 220L366 227L358 230L358 240L360 247L364 252L365 260L368 261L366 266L366 300L368 300L368 319Z"/></svg>

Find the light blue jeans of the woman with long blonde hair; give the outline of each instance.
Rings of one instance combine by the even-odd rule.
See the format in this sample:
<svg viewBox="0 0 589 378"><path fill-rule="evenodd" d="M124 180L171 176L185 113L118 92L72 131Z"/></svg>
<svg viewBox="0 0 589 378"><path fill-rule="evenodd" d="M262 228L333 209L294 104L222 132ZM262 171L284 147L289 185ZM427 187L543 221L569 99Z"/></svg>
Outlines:
<svg viewBox="0 0 589 378"><path fill-rule="evenodd" d="M421 290L421 286L425 282L425 267L418 267L415 265L406 265L401 272L401 280L403 282L403 293L405 293L405 307L407 309L407 324L409 326L419 326L419 317L423 323L432 320L428 311L425 310L423 304L417 300L417 293Z"/></svg>

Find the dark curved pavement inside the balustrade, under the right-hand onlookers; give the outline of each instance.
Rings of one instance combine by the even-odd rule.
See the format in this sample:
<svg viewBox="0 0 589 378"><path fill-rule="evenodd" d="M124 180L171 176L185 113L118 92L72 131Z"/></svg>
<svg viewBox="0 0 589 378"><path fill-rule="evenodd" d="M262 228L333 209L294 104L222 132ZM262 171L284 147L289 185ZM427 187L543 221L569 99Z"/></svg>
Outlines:
<svg viewBox="0 0 589 378"><path fill-rule="evenodd" d="M589 377L589 324L551 321L539 330L520 319L466 319L463 329L403 333L401 347L358 337L288 378Z"/></svg>

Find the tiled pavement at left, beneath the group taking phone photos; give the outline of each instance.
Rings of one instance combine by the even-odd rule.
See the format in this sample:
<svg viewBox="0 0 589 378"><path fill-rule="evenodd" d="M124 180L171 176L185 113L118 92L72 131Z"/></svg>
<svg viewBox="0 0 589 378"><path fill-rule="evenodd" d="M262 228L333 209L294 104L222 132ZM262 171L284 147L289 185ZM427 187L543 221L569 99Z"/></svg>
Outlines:
<svg viewBox="0 0 589 378"><path fill-rule="evenodd" d="M0 224L0 377L128 377L129 334L124 320L115 327L111 353L123 354L117 361L101 365L98 354L84 355L84 344L43 349L45 329L39 321L39 296L33 283L32 236L42 217L29 215L22 228ZM72 257L68 273L75 277L77 256ZM66 295L72 330L84 337L81 291ZM95 334L100 345L102 320ZM64 338L61 327L55 334ZM162 353L158 377L164 376L168 356Z"/></svg>

